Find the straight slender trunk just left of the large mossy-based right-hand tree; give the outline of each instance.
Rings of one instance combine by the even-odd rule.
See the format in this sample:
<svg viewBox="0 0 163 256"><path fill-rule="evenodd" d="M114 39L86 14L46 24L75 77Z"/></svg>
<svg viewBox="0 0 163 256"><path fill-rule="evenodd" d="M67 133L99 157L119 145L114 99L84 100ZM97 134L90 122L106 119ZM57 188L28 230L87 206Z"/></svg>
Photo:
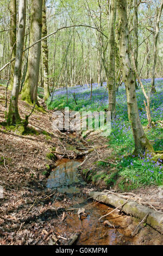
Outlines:
<svg viewBox="0 0 163 256"><path fill-rule="evenodd" d="M117 4L115 0L110 0L110 19L109 19L109 65L108 65L108 89L109 89L109 108L111 117L115 117L116 106L116 81L115 81L115 19Z"/></svg>

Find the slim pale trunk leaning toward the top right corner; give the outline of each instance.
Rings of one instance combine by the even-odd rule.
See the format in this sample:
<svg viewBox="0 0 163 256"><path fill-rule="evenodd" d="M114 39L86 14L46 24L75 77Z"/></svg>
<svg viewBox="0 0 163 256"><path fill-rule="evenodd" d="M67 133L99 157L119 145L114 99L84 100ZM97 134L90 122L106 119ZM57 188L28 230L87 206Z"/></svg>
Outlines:
<svg viewBox="0 0 163 256"><path fill-rule="evenodd" d="M155 93L156 89L154 86L154 78L155 78L155 65L156 65L156 57L157 57L157 42L158 42L158 35L159 35L159 23L161 19L161 13L163 8L163 0L161 0L161 6L159 9L159 13L157 15L156 25L155 25L155 35L154 35L154 45L153 45L153 67L152 67L152 92Z"/></svg>

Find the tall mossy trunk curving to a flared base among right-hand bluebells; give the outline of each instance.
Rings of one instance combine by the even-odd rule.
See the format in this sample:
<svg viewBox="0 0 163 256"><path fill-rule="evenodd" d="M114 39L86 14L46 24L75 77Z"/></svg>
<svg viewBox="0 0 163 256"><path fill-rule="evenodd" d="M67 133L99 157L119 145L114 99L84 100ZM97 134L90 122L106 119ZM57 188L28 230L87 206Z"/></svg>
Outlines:
<svg viewBox="0 0 163 256"><path fill-rule="evenodd" d="M126 0L117 0L118 18L119 18L119 41L120 41L120 59L122 62L123 81L126 86L127 106L130 113L130 122L135 141L135 155L149 151L154 153L152 145L149 143L143 127L141 125L139 111L137 107L135 92L135 73L131 66L129 57L129 30L127 19Z"/></svg>

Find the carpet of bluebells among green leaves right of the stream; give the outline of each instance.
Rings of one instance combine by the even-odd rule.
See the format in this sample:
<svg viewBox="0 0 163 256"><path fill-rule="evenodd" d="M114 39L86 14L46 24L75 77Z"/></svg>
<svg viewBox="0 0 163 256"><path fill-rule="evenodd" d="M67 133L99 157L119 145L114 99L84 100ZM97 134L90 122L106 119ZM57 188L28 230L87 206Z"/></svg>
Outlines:
<svg viewBox="0 0 163 256"><path fill-rule="evenodd" d="M142 80L146 89L150 86L151 80ZM163 78L155 79L156 93L151 94L151 116L152 120L161 120L163 115ZM78 105L74 102L73 94L76 95ZM54 93L52 104L49 108L64 108L69 106L76 111L102 111L108 107L108 92L106 91L106 83L99 87L97 83L93 84L92 100L90 100L91 86L76 86L68 88L68 104L66 97L66 88L57 89ZM139 115L141 123L147 125L147 115L144 106L145 97L142 90L136 90L137 104L139 107ZM116 118L111 121L111 134L109 136L109 144L113 147L118 155L129 154L134 150L134 139L128 120L127 97L124 85L116 92ZM147 137L153 141L154 149L161 150L163 148L163 140L161 139L161 126L156 124L155 129L146 130ZM134 156L133 156L134 157ZM122 159L123 161L123 159ZM123 168L123 175L130 176L133 182L141 184L158 183L163 180L162 166L160 161L154 162L152 156L139 157L138 159L128 162ZM122 174L122 173L121 173Z"/></svg>

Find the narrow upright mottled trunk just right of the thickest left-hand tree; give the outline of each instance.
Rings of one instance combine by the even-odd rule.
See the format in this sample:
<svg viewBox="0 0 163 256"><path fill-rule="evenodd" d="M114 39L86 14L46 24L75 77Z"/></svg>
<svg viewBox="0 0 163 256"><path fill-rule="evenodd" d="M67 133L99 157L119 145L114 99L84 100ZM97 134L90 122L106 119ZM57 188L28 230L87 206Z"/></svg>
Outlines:
<svg viewBox="0 0 163 256"><path fill-rule="evenodd" d="M42 8L42 38L47 35L46 24L46 0L43 0ZM43 65L43 88L44 99L47 100L50 96L49 93L49 78L48 78L48 45L47 38L42 40L42 65Z"/></svg>

